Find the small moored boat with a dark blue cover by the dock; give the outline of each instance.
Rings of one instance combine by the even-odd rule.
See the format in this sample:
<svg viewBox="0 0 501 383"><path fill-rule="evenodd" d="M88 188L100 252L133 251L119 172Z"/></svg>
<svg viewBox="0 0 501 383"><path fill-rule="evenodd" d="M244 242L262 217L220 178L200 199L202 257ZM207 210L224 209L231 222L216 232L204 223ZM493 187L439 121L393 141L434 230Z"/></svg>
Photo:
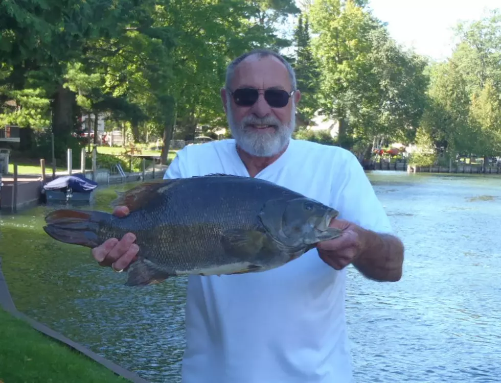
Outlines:
<svg viewBox="0 0 501 383"><path fill-rule="evenodd" d="M89 203L96 187L97 182L83 174L60 176L44 184L42 194L47 203Z"/></svg>

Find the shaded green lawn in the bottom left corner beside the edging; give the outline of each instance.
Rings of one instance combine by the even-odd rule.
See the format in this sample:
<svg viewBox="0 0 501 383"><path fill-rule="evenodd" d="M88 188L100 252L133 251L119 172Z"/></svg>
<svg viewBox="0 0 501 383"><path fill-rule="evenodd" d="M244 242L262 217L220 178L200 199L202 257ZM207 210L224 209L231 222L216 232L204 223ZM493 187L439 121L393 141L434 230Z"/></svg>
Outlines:
<svg viewBox="0 0 501 383"><path fill-rule="evenodd" d="M0 308L0 382L77 381L128 382Z"/></svg>

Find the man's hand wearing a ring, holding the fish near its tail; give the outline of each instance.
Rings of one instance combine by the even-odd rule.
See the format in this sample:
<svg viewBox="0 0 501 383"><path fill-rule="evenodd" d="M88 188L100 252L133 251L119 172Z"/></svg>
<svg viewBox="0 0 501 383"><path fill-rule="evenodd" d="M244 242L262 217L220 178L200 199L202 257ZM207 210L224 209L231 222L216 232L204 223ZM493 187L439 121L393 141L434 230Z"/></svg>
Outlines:
<svg viewBox="0 0 501 383"><path fill-rule="evenodd" d="M129 214L126 206L118 206L113 210L113 215L125 217ZM101 266L109 266L115 271L123 271L134 262L138 254L139 246L134 244L135 235L125 234L119 241L117 238L109 238L103 244L92 249L92 256Z"/></svg>

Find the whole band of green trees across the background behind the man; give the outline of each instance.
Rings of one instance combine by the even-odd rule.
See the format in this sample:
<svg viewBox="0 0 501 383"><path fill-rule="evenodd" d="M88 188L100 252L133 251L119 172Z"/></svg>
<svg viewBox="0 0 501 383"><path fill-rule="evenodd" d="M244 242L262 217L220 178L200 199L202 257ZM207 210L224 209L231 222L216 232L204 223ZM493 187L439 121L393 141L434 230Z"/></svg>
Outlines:
<svg viewBox="0 0 501 383"><path fill-rule="evenodd" d="M298 120L336 119L338 145L371 153L383 141L416 141L422 127L449 157L499 154L501 14L460 24L451 59L428 65L368 3L305 1L301 12L294 0L4 0L0 124L49 128L64 160L67 146L85 145L71 138L77 117L100 113L136 142L162 137L166 163L171 138L226 126L219 88L233 58L293 47ZM280 30L292 17L290 41ZM43 137L31 153L50 153Z"/></svg>

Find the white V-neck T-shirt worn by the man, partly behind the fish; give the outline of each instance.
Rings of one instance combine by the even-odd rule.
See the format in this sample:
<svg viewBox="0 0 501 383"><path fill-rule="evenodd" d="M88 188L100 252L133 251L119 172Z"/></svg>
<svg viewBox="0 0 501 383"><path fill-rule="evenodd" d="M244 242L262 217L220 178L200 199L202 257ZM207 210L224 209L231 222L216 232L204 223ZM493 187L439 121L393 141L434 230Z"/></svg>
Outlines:
<svg viewBox="0 0 501 383"><path fill-rule="evenodd" d="M227 139L187 146L164 178L249 176ZM291 140L257 178L337 209L339 218L377 232L390 222L356 157L339 147ZM183 383L348 383L346 270L316 249L280 268L188 281Z"/></svg>

